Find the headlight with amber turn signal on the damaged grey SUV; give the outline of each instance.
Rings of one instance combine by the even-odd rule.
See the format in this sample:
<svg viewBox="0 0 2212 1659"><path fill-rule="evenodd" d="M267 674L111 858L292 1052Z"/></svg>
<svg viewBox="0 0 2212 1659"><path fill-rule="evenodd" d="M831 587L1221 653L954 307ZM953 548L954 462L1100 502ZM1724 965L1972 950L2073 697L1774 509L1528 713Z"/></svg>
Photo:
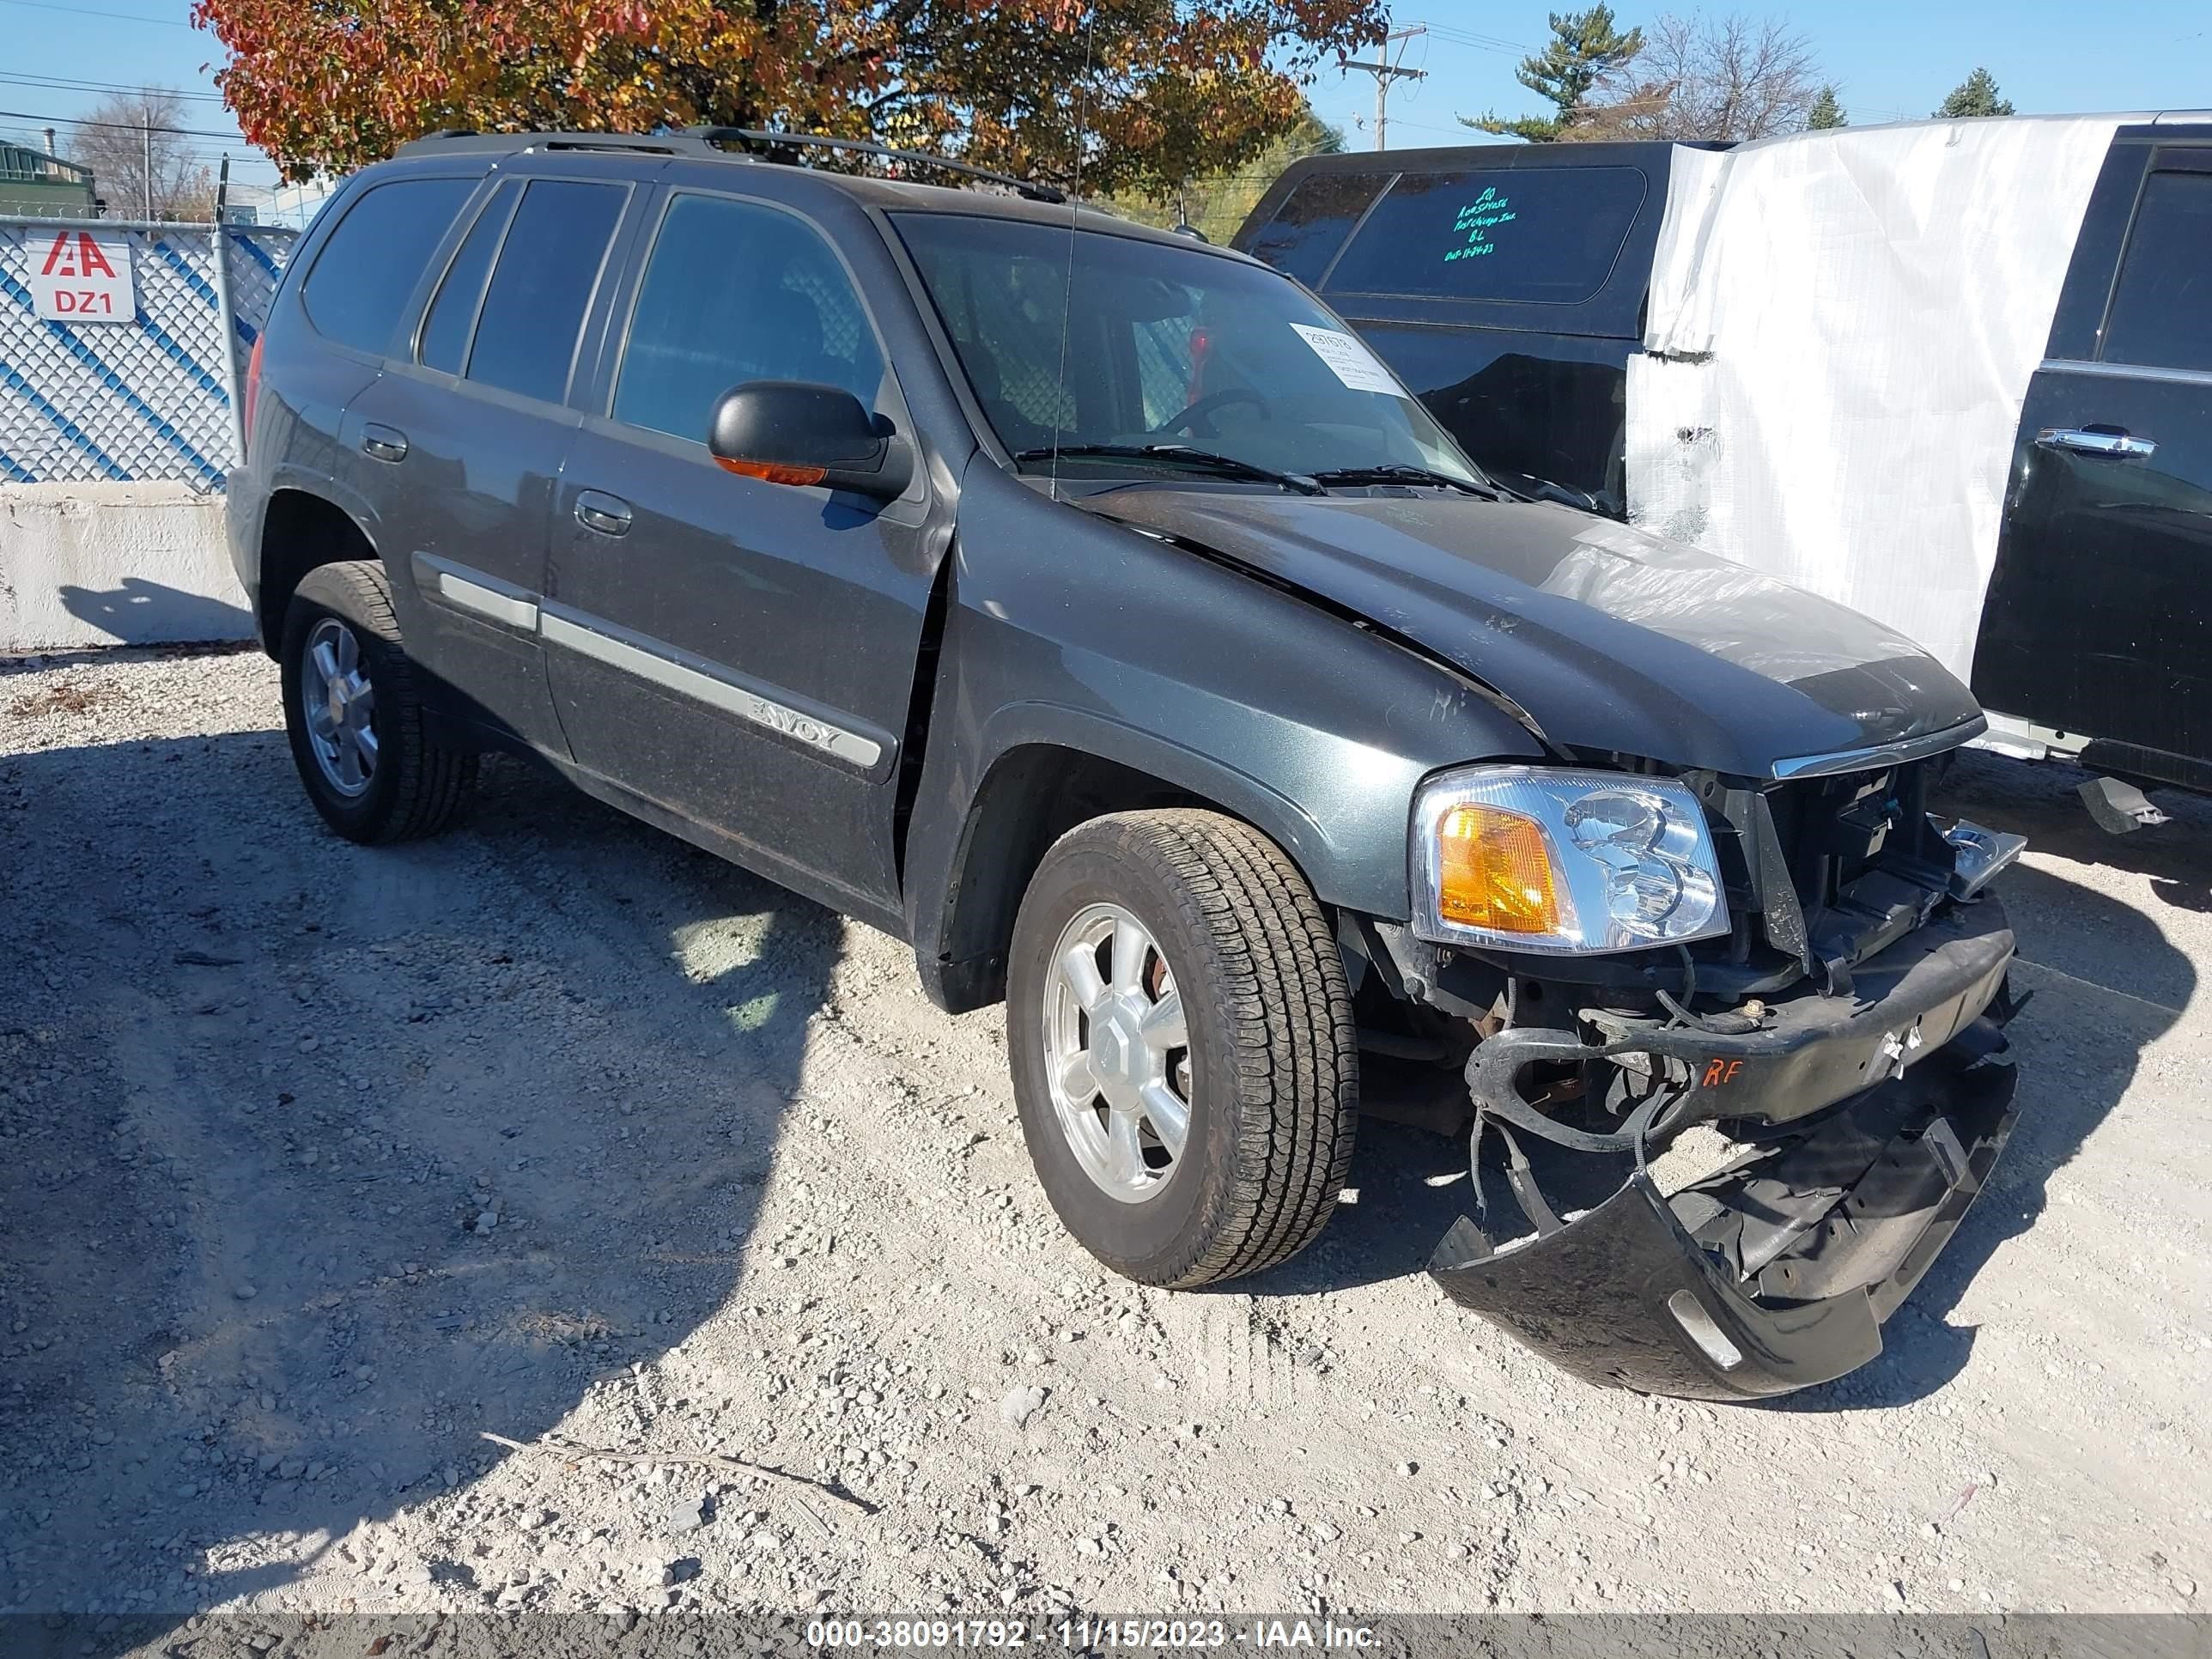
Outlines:
<svg viewBox="0 0 2212 1659"><path fill-rule="evenodd" d="M1413 931L1595 956L1728 931L1697 796L1672 779L1478 765L1413 799Z"/></svg>

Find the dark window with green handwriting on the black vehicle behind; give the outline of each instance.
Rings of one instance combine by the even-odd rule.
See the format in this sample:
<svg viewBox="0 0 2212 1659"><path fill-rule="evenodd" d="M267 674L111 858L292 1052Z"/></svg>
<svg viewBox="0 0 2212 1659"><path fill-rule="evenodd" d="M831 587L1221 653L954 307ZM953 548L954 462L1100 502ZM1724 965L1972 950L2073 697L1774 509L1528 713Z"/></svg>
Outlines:
<svg viewBox="0 0 2212 1659"><path fill-rule="evenodd" d="M1641 206L1637 168L1407 173L1329 292L1577 305L1606 285Z"/></svg>

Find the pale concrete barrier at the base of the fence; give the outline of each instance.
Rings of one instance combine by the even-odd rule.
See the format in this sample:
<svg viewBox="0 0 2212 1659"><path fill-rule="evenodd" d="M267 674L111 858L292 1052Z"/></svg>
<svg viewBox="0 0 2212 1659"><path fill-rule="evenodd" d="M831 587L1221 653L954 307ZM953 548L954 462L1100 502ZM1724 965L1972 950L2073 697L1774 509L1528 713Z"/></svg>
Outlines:
<svg viewBox="0 0 2212 1659"><path fill-rule="evenodd" d="M223 498L186 484L0 484L0 655L250 639Z"/></svg>

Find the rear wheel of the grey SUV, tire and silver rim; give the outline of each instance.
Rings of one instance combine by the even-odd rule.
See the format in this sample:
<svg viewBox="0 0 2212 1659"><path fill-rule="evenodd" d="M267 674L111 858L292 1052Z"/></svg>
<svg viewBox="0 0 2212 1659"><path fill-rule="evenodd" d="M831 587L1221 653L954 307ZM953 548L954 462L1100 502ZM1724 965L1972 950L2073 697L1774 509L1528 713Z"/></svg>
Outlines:
<svg viewBox="0 0 2212 1659"><path fill-rule="evenodd" d="M285 611L283 723L307 799L347 841L445 830L476 787L478 757L431 741L420 670L372 560L319 564Z"/></svg>

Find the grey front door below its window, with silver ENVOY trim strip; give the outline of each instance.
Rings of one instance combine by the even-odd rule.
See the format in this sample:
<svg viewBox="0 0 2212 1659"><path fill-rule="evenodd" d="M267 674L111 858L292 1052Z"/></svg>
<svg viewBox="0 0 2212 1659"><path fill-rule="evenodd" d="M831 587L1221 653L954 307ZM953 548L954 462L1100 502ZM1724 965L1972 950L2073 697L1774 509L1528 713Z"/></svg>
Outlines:
<svg viewBox="0 0 2212 1659"><path fill-rule="evenodd" d="M577 511L595 480L624 491L619 533ZM591 422L553 546L542 626L577 763L759 849L770 874L792 863L896 902L922 531Z"/></svg>

